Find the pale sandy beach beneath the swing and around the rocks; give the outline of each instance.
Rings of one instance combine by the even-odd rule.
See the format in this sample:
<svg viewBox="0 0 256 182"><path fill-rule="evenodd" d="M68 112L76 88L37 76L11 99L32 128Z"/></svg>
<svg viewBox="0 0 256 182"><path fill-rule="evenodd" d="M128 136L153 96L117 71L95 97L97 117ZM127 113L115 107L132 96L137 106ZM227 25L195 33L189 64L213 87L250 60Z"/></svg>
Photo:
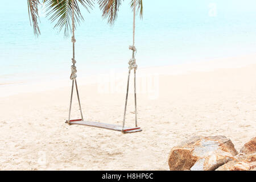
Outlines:
<svg viewBox="0 0 256 182"><path fill-rule="evenodd" d="M225 135L240 150L256 134L254 57L139 69L143 132L127 135L65 124L69 80L1 85L0 169L168 170L168 152L192 135ZM98 84L78 77L84 117L121 125L126 77L94 77ZM133 126L133 86L130 91L127 125ZM79 118L77 108L74 102L72 118Z"/></svg>

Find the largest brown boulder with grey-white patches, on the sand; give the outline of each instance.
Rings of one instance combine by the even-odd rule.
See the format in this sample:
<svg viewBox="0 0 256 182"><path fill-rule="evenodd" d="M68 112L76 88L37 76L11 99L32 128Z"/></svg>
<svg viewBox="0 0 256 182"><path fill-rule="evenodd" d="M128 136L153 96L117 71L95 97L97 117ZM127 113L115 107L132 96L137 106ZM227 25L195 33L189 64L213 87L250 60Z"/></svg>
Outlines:
<svg viewBox="0 0 256 182"><path fill-rule="evenodd" d="M237 155L234 144L224 136L192 137L172 148L168 156L171 171L210 171Z"/></svg>

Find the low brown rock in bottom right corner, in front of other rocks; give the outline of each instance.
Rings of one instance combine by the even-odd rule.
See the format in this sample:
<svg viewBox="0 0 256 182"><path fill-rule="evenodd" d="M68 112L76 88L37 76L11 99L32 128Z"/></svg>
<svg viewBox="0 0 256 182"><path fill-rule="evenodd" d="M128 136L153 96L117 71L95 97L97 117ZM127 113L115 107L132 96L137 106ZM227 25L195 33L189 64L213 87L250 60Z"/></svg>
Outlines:
<svg viewBox="0 0 256 182"><path fill-rule="evenodd" d="M248 154L239 154L235 158L216 171L255 171L256 169L256 152Z"/></svg>

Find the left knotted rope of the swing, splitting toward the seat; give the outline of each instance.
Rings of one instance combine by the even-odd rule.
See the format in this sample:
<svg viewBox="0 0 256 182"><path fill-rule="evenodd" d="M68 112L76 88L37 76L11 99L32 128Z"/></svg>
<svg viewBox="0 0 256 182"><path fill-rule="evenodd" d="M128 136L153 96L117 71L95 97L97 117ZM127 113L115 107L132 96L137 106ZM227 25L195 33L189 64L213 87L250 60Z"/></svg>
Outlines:
<svg viewBox="0 0 256 182"><path fill-rule="evenodd" d="M73 65L71 65L71 76L70 79L72 80L72 90L71 90L71 100L70 100L70 105L69 105L69 115L68 115L68 124L70 125L70 117L71 117L71 106L72 106L72 98L73 98L73 88L74 88L74 82L76 84L76 94L77 94L77 99L79 101L79 108L80 108L80 114L81 114L81 118L82 120L84 120L84 117L82 116L82 109L81 109L81 103L80 103L80 98L79 98L79 91L77 88L77 82L76 82L76 60L75 60L75 43L76 43L76 39L75 39L75 8L74 8L74 0L72 0L72 38L71 38L71 42L73 43L73 57L72 57L72 63Z"/></svg>

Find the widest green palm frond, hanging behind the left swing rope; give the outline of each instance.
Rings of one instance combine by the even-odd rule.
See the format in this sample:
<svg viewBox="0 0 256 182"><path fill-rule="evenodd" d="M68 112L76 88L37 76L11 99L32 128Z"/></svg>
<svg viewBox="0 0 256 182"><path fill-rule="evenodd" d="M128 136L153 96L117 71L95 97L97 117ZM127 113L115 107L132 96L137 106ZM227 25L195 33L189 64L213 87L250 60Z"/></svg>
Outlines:
<svg viewBox="0 0 256 182"><path fill-rule="evenodd" d="M92 9L92 0L74 0L74 18L75 18L75 28L77 24L80 24L80 20L84 20L79 3L85 7L87 11ZM64 28L64 35L68 36L69 32L72 31L72 0L44 0L51 22L56 22L55 28L59 27L59 31Z"/></svg>

